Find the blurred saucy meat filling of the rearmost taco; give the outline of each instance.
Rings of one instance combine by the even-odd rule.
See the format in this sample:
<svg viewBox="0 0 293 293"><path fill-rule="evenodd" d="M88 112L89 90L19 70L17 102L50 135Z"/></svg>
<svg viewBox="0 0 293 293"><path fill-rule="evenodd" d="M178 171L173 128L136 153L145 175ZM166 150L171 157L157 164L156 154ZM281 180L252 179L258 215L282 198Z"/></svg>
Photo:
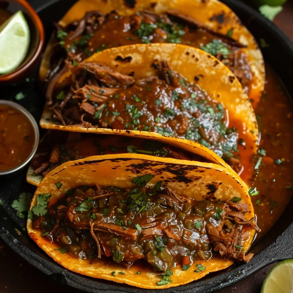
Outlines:
<svg viewBox="0 0 293 293"><path fill-rule="evenodd" d="M103 15L99 11L87 12L83 19L61 27L57 25L56 38L47 80L64 66L67 59L73 64L81 62L96 52L123 45L140 43L180 43L200 48L222 61L241 82L246 93L252 74L245 47L228 35L207 28L196 19L176 10L157 15L141 11L121 16L113 11Z"/></svg>

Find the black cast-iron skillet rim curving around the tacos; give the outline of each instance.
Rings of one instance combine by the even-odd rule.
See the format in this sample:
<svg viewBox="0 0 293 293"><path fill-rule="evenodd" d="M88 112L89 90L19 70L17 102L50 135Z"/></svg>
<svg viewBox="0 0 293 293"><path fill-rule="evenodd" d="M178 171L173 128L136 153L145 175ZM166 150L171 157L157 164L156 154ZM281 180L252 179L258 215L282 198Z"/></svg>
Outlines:
<svg viewBox="0 0 293 293"><path fill-rule="evenodd" d="M50 5L58 2L59 0L31 0L30 4L40 12ZM282 49L289 52L289 56L293 60L293 43L289 38L279 29L275 24L273 24L268 19L261 16L253 8L248 7L246 4L235 1L235 0L222 0L226 5L230 6L232 10L240 9L249 13L260 25L267 26L270 33L274 35L274 38L282 44ZM283 212L285 214L286 210L292 206L293 200L289 202L287 208ZM277 221L275 225L282 222L282 216ZM292 220L290 220L292 222ZM290 223L289 222L289 223ZM30 250L26 247L20 240L17 232L13 232L14 224L7 223L0 226L0 237L9 245L13 251L21 255L30 264L34 265L36 268L41 270L47 275L50 275L59 283L67 284L69 286L75 287L77 289L84 290L86 292L157 292L157 293L170 293L170 292L213 292L215 290L222 289L229 285L232 285L240 280L253 274L263 266L273 263L277 260L283 260L287 258L293 258L293 223L289 224L287 229L278 236L277 240L272 242L264 250L260 251L254 258L248 263L243 265L234 265L230 269L225 270L223 273L211 276L205 280L192 282L184 286L173 287L170 289L155 289L147 290L128 286L125 284L117 284L114 282L106 282L99 279L92 279L85 277L74 272L65 270L63 267L55 263L53 260L48 258L46 255L41 255L42 251L40 249L35 249L35 251ZM12 232L11 232L12 231ZM212 274L211 274L212 275Z"/></svg>

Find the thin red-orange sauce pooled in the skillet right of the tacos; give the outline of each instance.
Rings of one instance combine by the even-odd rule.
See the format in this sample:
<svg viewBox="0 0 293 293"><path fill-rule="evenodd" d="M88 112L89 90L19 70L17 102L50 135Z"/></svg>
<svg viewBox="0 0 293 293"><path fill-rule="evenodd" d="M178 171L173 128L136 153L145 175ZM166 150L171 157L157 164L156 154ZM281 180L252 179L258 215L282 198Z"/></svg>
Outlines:
<svg viewBox="0 0 293 293"><path fill-rule="evenodd" d="M292 102L280 79L266 67L266 84L255 109L261 133L259 155L249 185L257 224L263 236L277 221L293 191L293 111ZM254 195L255 194L255 195Z"/></svg>

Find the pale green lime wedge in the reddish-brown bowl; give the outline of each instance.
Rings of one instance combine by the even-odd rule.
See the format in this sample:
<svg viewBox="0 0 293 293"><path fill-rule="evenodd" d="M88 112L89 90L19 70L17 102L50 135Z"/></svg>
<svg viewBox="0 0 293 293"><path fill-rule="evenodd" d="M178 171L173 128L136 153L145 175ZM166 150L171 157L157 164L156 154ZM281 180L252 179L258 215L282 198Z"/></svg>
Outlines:
<svg viewBox="0 0 293 293"><path fill-rule="evenodd" d="M21 11L0 26L0 74L16 69L30 45L30 29Z"/></svg>

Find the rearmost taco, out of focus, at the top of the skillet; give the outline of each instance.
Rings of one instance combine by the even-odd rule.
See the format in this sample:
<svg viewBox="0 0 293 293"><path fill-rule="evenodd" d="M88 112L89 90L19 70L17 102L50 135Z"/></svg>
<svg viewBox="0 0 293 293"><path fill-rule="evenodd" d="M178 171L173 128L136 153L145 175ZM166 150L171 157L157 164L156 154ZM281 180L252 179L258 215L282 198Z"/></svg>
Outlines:
<svg viewBox="0 0 293 293"><path fill-rule="evenodd" d="M263 57L239 18L217 0L80 0L56 25L40 77L50 81L63 61L140 43L181 43L201 48L231 69L251 100L264 88ZM59 43L59 45L58 45Z"/></svg>

